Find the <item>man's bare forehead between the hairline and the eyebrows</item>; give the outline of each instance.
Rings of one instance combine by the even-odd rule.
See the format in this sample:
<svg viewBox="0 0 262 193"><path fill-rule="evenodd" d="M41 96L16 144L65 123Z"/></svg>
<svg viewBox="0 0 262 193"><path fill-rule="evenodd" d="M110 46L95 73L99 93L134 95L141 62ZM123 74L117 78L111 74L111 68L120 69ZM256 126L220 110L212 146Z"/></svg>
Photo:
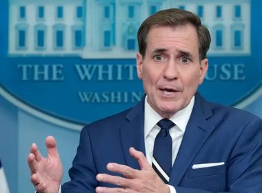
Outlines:
<svg viewBox="0 0 262 193"><path fill-rule="evenodd" d="M154 26L148 32L147 50L159 48L181 49L187 52L199 52L199 41L194 26Z"/></svg>

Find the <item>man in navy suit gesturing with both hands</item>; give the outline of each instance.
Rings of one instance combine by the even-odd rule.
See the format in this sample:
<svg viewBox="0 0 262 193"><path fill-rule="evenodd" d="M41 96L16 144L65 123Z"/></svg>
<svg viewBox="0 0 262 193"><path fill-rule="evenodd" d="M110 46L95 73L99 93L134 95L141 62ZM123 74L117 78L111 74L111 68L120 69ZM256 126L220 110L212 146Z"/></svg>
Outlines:
<svg viewBox="0 0 262 193"><path fill-rule="evenodd" d="M177 9L157 12L142 23L138 42L137 74L146 95L134 108L83 128L71 181L62 187L54 138L46 139L46 159L32 144L28 164L36 190L262 192L261 119L196 92L210 45L199 17ZM163 143L168 145L157 150Z"/></svg>

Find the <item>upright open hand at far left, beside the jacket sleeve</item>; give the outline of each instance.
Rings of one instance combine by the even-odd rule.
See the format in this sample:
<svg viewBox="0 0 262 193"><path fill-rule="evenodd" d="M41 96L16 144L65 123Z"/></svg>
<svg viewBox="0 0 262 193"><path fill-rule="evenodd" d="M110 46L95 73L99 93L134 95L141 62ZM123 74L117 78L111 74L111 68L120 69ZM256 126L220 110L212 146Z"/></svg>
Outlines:
<svg viewBox="0 0 262 193"><path fill-rule="evenodd" d="M46 138L48 156L44 158L37 145L33 143L28 155L28 165L31 170L31 182L39 193L58 193L63 176L63 166L57 152L54 137Z"/></svg>

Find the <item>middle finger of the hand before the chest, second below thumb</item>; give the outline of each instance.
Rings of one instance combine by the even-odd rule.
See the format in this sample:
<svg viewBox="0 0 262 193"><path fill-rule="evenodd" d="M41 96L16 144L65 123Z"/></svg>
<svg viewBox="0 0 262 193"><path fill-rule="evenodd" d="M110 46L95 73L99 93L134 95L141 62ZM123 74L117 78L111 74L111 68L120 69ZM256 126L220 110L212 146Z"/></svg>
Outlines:
<svg viewBox="0 0 262 193"><path fill-rule="evenodd" d="M120 176L112 176L109 174L97 174L97 181L111 183L120 187L126 187L128 185L127 179Z"/></svg>

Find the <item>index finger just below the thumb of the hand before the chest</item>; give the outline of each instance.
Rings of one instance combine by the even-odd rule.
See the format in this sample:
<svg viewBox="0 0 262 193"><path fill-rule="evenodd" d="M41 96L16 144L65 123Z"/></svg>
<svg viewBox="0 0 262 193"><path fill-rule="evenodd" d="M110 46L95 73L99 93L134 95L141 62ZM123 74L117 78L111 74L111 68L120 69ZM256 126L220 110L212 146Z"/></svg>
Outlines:
<svg viewBox="0 0 262 193"><path fill-rule="evenodd" d="M134 179L137 176L138 172L138 170L135 170L132 167L121 165L118 163L108 163L108 165L106 165L106 168L111 172L122 174L128 179Z"/></svg>

